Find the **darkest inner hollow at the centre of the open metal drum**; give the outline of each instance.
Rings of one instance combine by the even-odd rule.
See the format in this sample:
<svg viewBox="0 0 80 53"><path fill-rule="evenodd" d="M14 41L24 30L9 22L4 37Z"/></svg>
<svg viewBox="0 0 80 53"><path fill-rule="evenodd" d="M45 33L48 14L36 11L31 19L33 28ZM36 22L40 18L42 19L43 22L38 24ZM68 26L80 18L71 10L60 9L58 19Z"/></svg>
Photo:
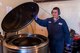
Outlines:
<svg viewBox="0 0 80 53"><path fill-rule="evenodd" d="M32 37L22 37L12 41L12 44L16 46L34 46L39 45L40 43L41 43L40 39Z"/></svg>

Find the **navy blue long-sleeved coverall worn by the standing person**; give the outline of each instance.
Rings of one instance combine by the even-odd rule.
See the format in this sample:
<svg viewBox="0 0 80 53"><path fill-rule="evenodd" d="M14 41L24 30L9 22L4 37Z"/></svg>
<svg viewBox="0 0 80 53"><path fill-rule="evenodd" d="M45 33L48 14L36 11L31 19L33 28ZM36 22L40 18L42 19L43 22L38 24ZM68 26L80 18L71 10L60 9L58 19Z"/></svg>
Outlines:
<svg viewBox="0 0 80 53"><path fill-rule="evenodd" d="M70 44L70 33L65 20L59 16L56 22L53 17L45 20L38 18L36 22L47 27L50 53L63 53L64 43Z"/></svg>

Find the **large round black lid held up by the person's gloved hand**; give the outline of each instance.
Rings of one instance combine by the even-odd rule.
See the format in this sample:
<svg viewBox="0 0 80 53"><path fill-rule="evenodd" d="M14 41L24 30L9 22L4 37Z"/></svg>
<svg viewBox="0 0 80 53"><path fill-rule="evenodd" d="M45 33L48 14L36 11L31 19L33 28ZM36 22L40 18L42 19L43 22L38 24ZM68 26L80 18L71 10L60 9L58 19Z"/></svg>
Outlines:
<svg viewBox="0 0 80 53"><path fill-rule="evenodd" d="M39 7L34 2L23 3L12 9L3 19L1 27L5 32L16 32L28 25L38 14Z"/></svg>

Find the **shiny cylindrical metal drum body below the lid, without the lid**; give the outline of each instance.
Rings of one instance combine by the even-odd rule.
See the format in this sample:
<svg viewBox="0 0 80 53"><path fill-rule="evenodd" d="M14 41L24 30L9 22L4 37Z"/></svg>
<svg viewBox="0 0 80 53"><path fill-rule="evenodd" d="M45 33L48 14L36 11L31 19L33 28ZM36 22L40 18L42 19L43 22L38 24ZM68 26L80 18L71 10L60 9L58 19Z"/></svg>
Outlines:
<svg viewBox="0 0 80 53"><path fill-rule="evenodd" d="M49 53L48 39L39 34L19 34L4 42L4 53Z"/></svg>

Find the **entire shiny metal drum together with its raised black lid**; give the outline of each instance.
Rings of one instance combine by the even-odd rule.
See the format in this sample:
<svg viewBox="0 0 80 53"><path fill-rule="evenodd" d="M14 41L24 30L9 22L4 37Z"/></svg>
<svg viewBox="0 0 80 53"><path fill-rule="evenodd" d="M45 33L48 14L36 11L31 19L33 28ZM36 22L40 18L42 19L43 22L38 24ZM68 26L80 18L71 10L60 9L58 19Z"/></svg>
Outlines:
<svg viewBox="0 0 80 53"><path fill-rule="evenodd" d="M3 53L49 53L48 38L43 35L7 35L7 33L17 32L30 24L38 11L39 7L36 3L26 2L12 9L5 16L1 24L3 31L5 31Z"/></svg>

